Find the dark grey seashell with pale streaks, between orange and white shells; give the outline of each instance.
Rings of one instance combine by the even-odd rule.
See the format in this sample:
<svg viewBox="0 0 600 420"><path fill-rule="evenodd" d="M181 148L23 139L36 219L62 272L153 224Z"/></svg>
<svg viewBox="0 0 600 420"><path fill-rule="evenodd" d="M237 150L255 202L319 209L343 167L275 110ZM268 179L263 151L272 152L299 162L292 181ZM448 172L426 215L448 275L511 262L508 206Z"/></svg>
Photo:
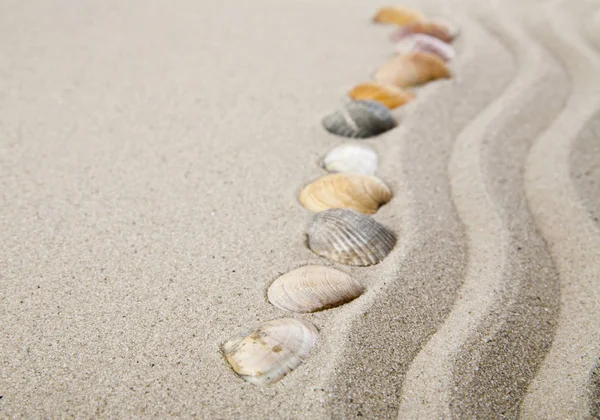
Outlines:
<svg viewBox="0 0 600 420"><path fill-rule="evenodd" d="M323 118L323 127L342 137L365 139L396 127L389 109L376 101L350 101Z"/></svg>

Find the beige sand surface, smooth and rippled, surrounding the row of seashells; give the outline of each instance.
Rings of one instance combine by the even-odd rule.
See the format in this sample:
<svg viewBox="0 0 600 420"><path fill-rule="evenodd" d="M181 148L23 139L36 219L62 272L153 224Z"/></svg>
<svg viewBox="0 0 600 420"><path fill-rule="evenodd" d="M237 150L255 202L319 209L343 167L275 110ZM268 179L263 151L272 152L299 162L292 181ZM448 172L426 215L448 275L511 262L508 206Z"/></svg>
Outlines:
<svg viewBox="0 0 600 420"><path fill-rule="evenodd" d="M320 126L392 54L385 2L0 0L0 417L600 416L600 8L413 1L452 80L366 140L399 237L297 315L265 388L220 345L289 316ZM405 3L410 5L410 3Z"/></svg>

